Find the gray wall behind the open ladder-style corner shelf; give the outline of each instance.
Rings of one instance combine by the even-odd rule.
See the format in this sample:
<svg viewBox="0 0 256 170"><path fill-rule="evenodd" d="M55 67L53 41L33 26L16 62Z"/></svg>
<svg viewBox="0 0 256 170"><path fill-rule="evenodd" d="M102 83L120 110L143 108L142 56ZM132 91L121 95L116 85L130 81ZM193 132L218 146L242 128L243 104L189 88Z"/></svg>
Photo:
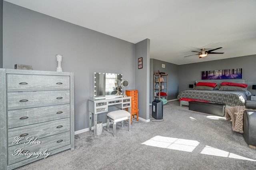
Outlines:
<svg viewBox="0 0 256 170"><path fill-rule="evenodd" d="M165 68L162 68L162 64L165 64ZM168 101L177 99L178 96L178 70L179 65L168 63L165 61L150 59L150 103L154 100L154 72L164 72L168 74Z"/></svg>

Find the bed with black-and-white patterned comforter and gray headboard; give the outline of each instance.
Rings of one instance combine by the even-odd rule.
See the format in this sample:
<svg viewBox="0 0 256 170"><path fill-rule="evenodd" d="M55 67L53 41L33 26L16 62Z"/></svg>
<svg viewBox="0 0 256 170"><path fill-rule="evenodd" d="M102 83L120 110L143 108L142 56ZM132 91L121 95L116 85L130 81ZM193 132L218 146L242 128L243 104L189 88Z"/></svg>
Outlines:
<svg viewBox="0 0 256 170"><path fill-rule="evenodd" d="M198 80L198 82L217 83L220 86L222 82L247 84L245 79L221 79L221 80ZM219 90L184 90L178 95L180 106L189 105L189 101L202 101L210 103L224 104L226 106L244 106L247 96L251 95L249 91L219 91Z"/></svg>

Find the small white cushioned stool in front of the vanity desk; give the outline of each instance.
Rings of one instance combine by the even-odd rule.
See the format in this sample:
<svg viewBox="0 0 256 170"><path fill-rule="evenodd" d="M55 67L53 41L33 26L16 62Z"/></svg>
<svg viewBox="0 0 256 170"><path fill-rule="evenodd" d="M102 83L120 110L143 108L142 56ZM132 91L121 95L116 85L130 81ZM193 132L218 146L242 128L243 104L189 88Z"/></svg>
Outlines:
<svg viewBox="0 0 256 170"><path fill-rule="evenodd" d="M128 119L128 130L131 129L131 114L128 111L117 110L107 114L107 129L109 132L109 123L113 122L113 136L116 136L116 123L121 122L122 127L124 126L124 120Z"/></svg>

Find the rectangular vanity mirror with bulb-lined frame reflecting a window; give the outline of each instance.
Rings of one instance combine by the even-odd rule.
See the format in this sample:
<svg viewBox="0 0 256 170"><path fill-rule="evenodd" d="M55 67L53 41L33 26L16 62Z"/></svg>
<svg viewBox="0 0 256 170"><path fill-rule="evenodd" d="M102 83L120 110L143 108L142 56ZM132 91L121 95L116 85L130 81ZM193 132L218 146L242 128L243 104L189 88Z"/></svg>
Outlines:
<svg viewBox="0 0 256 170"><path fill-rule="evenodd" d="M94 73L94 98L112 96L116 97L121 95L122 79L122 74ZM118 85L118 87L116 85Z"/></svg>

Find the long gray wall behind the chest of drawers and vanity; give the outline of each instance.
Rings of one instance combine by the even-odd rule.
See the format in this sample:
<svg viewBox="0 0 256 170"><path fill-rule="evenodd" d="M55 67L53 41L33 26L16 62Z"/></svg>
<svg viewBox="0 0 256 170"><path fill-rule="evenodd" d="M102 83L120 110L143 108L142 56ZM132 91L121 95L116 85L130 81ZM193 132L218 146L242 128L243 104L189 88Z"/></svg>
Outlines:
<svg viewBox="0 0 256 170"><path fill-rule="evenodd" d="M122 73L127 89L135 88L135 44L56 18L3 3L3 68L32 65L33 70L74 72L75 131L88 128L88 99L93 97L93 73ZM115 108L110 108L115 109ZM106 123L106 114L98 116Z"/></svg>

